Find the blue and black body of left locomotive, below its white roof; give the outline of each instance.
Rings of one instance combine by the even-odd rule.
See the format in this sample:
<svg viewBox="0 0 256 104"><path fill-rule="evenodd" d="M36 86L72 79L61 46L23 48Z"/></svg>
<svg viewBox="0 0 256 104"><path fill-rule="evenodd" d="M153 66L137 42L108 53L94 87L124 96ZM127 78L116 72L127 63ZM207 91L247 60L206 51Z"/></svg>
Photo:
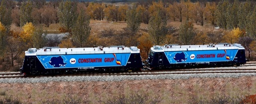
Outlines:
<svg viewBox="0 0 256 104"><path fill-rule="evenodd" d="M24 74L72 73L77 71L125 71L141 69L139 53L29 55L20 69Z"/></svg>

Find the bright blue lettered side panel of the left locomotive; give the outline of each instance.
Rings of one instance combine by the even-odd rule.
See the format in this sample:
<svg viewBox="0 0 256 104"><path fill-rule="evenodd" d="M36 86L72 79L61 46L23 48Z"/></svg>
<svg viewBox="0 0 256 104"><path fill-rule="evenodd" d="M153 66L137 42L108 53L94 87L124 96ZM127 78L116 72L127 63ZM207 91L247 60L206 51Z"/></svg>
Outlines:
<svg viewBox="0 0 256 104"><path fill-rule="evenodd" d="M126 66L130 53L37 55L45 69Z"/></svg>

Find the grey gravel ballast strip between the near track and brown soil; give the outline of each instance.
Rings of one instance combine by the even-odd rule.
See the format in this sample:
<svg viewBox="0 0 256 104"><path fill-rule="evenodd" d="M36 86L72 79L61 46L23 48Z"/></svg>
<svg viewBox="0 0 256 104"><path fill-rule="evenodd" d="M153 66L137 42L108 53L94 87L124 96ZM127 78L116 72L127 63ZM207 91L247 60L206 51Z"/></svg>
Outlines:
<svg viewBox="0 0 256 104"><path fill-rule="evenodd" d="M154 79L189 79L189 78L238 78L256 76L256 73L207 73L207 74L162 74L162 75L113 75L113 76L58 76L36 78L1 78L0 83L48 83L48 82L87 82L87 81L124 81Z"/></svg>

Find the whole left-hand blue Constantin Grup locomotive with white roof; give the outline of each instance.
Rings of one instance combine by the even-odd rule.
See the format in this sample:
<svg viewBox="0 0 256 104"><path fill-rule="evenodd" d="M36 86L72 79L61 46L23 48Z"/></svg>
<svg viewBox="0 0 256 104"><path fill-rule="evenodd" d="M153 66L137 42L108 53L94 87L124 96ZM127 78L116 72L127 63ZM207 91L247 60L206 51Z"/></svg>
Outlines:
<svg viewBox="0 0 256 104"><path fill-rule="evenodd" d="M56 74L79 71L140 70L143 65L137 47L31 48L20 68L23 74Z"/></svg>

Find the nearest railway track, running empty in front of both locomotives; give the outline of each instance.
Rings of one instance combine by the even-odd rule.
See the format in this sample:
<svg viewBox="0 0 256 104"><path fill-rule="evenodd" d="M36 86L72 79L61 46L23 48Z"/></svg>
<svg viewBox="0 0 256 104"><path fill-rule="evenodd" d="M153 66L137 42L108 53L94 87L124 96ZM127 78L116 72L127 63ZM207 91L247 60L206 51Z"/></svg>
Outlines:
<svg viewBox="0 0 256 104"><path fill-rule="evenodd" d="M119 75L158 75L158 74L204 74L204 73L256 73L255 69L179 69L179 70L147 70L142 72L121 72L121 73L75 73L75 74L61 74L57 76L119 76ZM48 77L53 77L47 75ZM4 73L0 74L0 78L23 78L21 74ZM30 78L42 77L29 76Z"/></svg>

